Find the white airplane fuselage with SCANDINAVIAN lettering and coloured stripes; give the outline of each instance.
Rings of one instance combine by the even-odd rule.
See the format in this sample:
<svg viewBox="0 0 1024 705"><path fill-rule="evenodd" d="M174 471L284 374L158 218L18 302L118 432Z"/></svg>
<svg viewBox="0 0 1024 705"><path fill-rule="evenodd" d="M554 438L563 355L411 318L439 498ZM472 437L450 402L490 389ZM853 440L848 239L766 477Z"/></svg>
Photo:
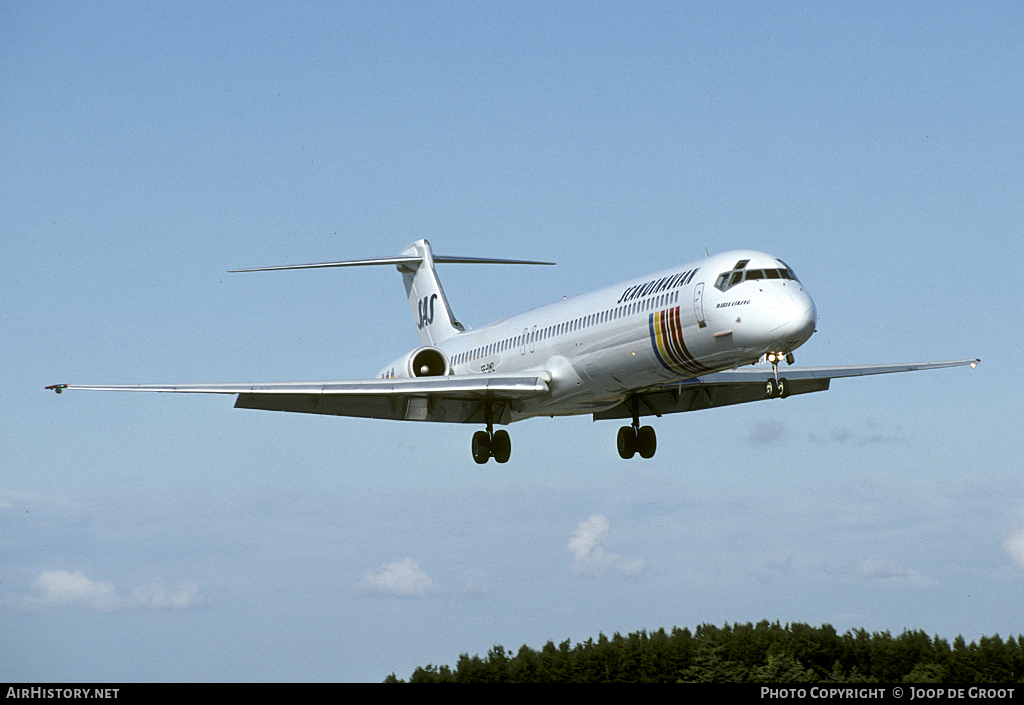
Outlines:
<svg viewBox="0 0 1024 705"><path fill-rule="evenodd" d="M638 389L791 352L814 332L810 295L779 259L735 250L467 330L435 347L451 374L543 371L550 393L513 420L606 409ZM400 361L381 377L401 376Z"/></svg>

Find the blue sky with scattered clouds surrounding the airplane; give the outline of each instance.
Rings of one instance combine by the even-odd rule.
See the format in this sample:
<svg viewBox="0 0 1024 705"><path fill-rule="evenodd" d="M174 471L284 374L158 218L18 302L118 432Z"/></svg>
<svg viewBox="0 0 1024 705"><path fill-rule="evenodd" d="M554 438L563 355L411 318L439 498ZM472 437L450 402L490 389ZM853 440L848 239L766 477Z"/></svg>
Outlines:
<svg viewBox="0 0 1024 705"><path fill-rule="evenodd" d="M0 678L379 680L495 644L761 619L1024 632L1019 3L7 3ZM55 382L346 379L737 247L805 365L976 370L614 423L236 411Z"/></svg>

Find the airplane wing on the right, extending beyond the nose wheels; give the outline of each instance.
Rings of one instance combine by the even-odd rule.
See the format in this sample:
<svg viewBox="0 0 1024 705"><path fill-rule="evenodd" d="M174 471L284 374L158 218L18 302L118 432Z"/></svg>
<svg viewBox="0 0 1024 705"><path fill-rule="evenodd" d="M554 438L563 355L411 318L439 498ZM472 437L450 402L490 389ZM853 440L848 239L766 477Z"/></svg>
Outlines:
<svg viewBox="0 0 1024 705"><path fill-rule="evenodd" d="M910 363L905 365L845 365L839 367L805 367L779 370L783 381L783 397L824 391L833 379L840 377L860 377L864 375L889 374L892 372L914 372L935 370L943 367L977 367L980 360L950 360L938 363ZM685 379L667 384L654 391L640 396L640 416L651 414L677 414L699 409L714 409L733 404L745 404L768 399L769 380L775 374L770 368L736 369L713 372L702 377ZM633 412L627 403L594 414L594 420L632 418Z"/></svg>

